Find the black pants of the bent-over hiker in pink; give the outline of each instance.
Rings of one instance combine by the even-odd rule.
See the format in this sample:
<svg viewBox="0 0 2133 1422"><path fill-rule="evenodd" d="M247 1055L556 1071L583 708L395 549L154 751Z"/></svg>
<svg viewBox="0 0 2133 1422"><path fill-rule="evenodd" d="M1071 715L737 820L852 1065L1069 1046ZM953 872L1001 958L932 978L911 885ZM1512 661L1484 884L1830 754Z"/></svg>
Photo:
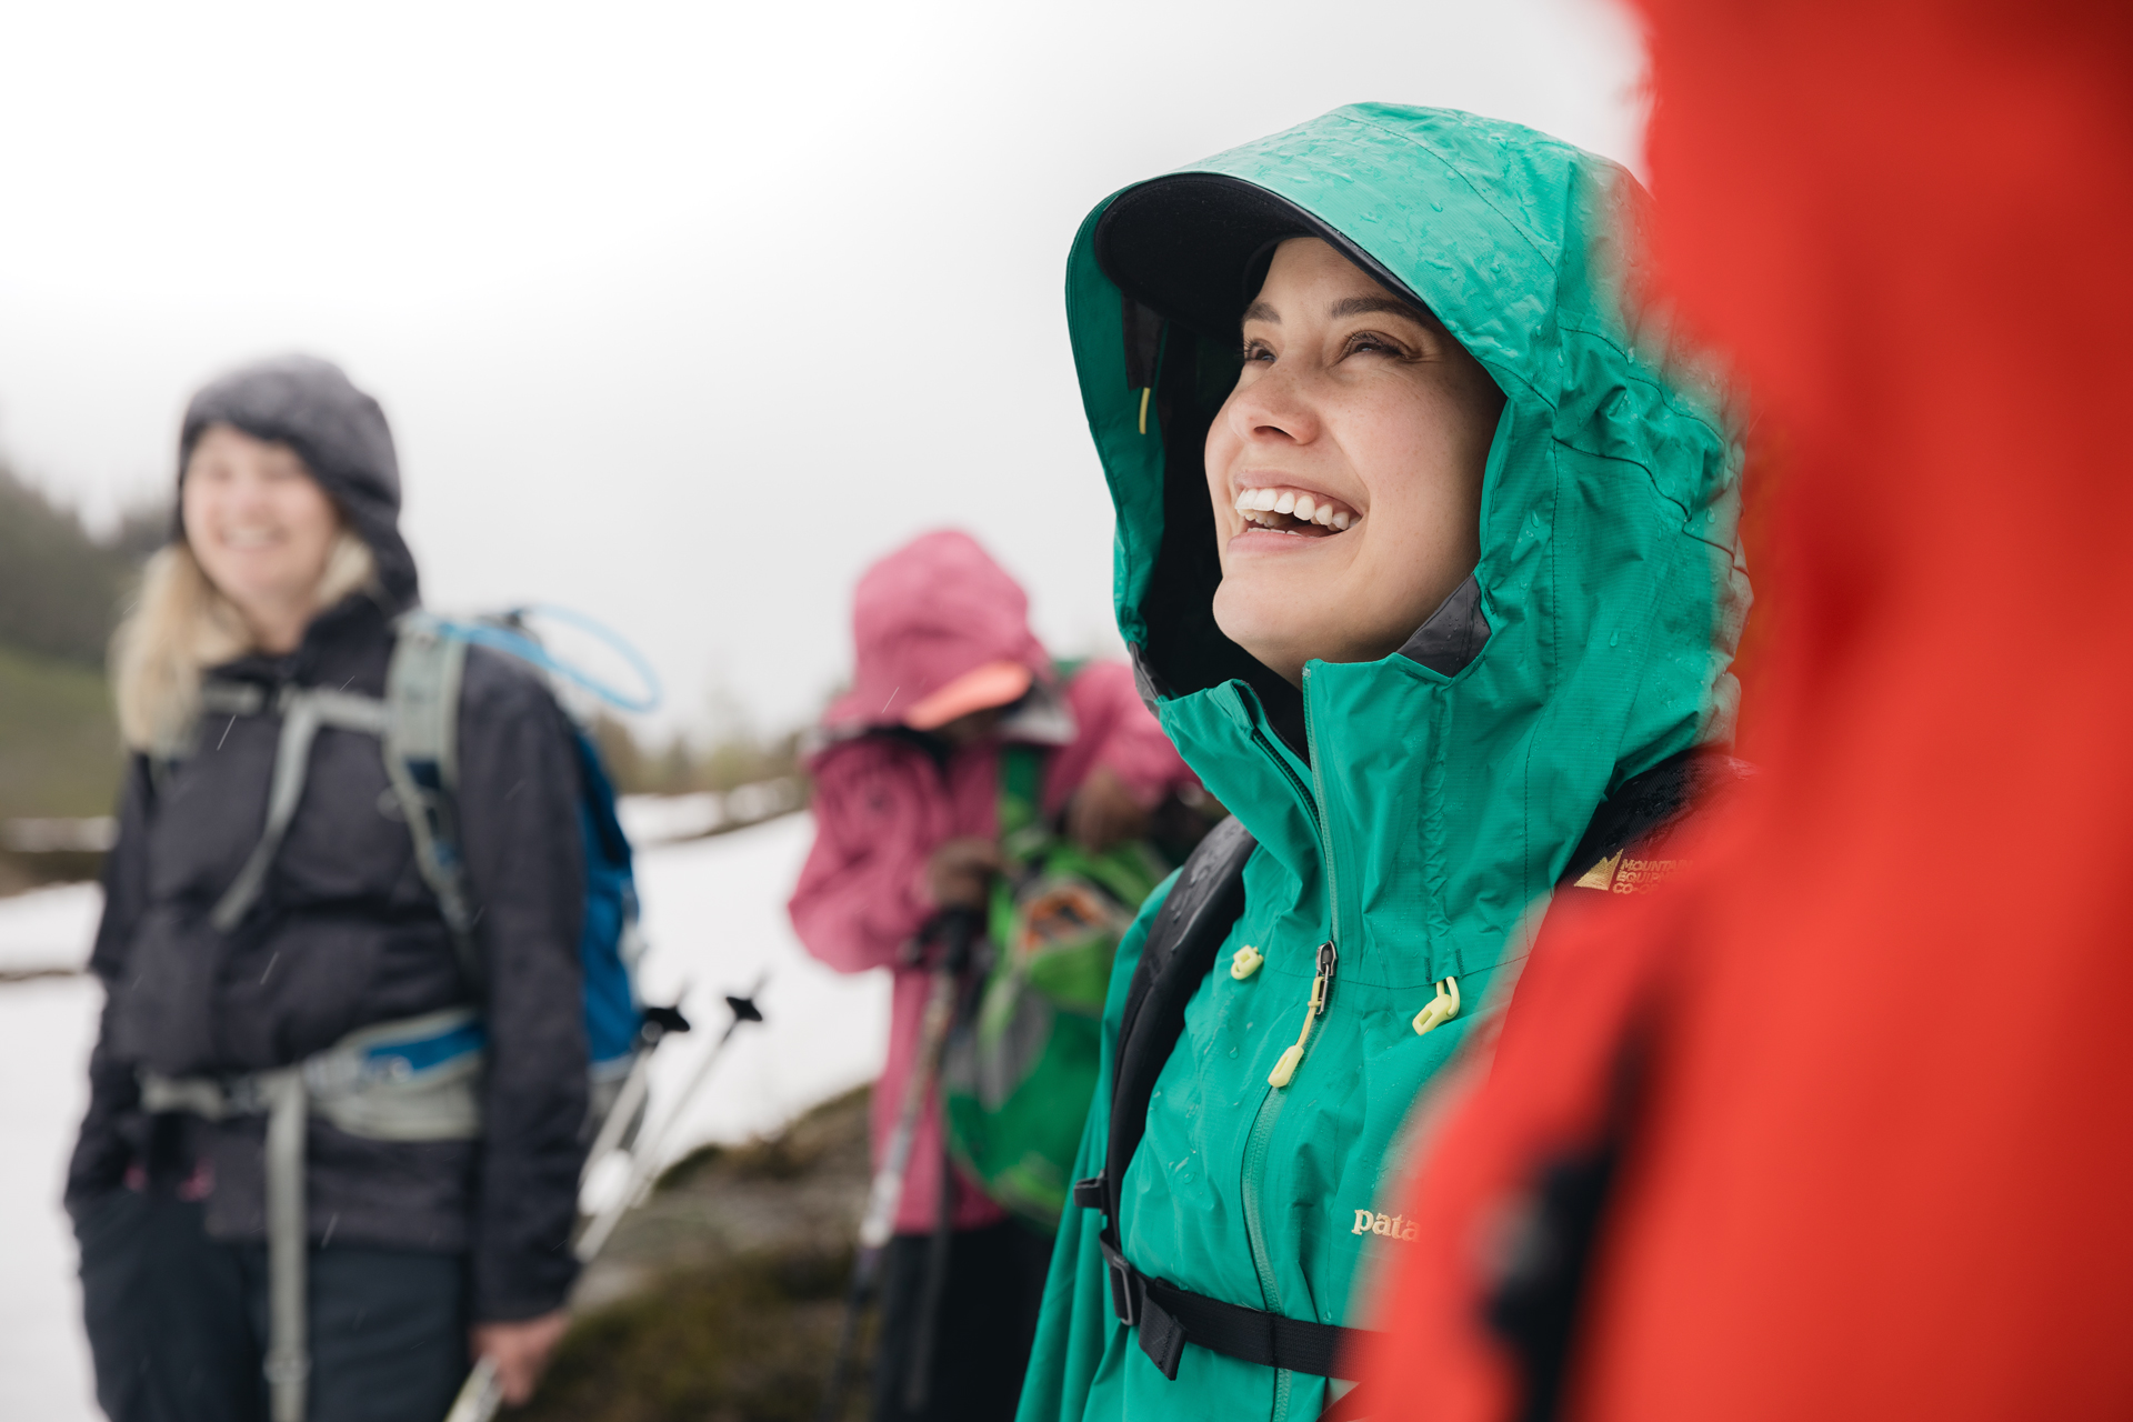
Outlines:
<svg viewBox="0 0 2133 1422"><path fill-rule="evenodd" d="M881 1271L875 1422L1011 1422L1037 1339L1052 1241L1022 1224L958 1230L934 1322L926 1407L904 1407L930 1234L898 1234Z"/></svg>

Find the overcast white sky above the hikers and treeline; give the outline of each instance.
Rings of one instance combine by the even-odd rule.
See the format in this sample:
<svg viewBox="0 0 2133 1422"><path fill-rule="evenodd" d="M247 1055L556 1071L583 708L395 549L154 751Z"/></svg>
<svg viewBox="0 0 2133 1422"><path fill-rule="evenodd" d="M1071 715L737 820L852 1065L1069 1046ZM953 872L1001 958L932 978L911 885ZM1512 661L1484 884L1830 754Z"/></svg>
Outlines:
<svg viewBox="0 0 2133 1422"><path fill-rule="evenodd" d="M1608 0L11 4L0 454L90 512L190 390L339 360L433 605L621 627L766 729L941 524L1116 646L1062 271L1111 190L1354 100L1640 158Z"/></svg>

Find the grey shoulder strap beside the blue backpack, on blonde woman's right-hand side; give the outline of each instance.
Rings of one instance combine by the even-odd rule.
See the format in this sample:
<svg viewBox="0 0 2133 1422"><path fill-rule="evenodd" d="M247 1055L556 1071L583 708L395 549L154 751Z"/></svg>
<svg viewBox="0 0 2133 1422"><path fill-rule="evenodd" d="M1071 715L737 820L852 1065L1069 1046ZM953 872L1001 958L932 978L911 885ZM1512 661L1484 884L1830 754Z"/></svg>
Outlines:
<svg viewBox="0 0 2133 1422"><path fill-rule="evenodd" d="M386 778L414 836L414 861L437 895L467 979L482 981L474 900L459 849L459 686L467 644L422 612L401 618L386 667Z"/></svg>

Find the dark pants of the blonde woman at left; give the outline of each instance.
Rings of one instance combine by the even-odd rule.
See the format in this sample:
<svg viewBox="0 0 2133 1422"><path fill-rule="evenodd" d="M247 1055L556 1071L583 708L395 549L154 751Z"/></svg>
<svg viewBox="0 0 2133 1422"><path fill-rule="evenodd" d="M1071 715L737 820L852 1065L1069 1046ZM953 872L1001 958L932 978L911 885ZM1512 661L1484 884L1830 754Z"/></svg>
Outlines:
<svg viewBox="0 0 2133 1422"><path fill-rule="evenodd" d="M113 1190L75 1209L96 1401L111 1422L264 1422L267 1247ZM467 1375L456 1254L314 1247L309 1422L437 1422Z"/></svg>

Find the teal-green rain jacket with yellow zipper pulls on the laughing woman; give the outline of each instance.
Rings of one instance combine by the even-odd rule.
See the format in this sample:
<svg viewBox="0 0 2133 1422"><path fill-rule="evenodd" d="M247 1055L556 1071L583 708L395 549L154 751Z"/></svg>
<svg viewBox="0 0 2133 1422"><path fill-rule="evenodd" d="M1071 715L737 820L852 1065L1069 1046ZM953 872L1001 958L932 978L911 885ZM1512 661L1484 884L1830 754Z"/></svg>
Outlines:
<svg viewBox="0 0 2133 1422"><path fill-rule="evenodd" d="M1186 1011L1124 1177L1124 1254L1212 1298L1359 1326L1357 1281L1391 1251L1457 1247L1369 1232L1359 1211L1397 1209L1395 1132L1491 976L1523 955L1527 908L1613 787L1730 738L1749 597L1741 450L1719 384L1623 298L1645 198L1619 166L1512 124L1357 104L1186 173L1244 179L1348 239L1506 394L1474 573L1480 652L1453 676L1412 655L1314 661L1299 697L1209 614L1220 571L1201 448L1239 369L1235 326L1154 326L1124 298L1096 235L1135 190L1075 239L1066 311L1118 505L1118 625L1162 727L1258 840L1244 915ZM1453 603L1429 623L1457 616ZM1081 1177L1103 1166L1120 1013L1167 889L1118 953ZM1269 1087L1329 938L1331 1002L1290 1085ZM1235 979L1244 944L1265 966ZM1416 1034L1446 976L1468 1011ZM1165 1379L1111 1309L1098 1228L1069 1207L1020 1422L1320 1411L1325 1379L1203 1347Z"/></svg>

